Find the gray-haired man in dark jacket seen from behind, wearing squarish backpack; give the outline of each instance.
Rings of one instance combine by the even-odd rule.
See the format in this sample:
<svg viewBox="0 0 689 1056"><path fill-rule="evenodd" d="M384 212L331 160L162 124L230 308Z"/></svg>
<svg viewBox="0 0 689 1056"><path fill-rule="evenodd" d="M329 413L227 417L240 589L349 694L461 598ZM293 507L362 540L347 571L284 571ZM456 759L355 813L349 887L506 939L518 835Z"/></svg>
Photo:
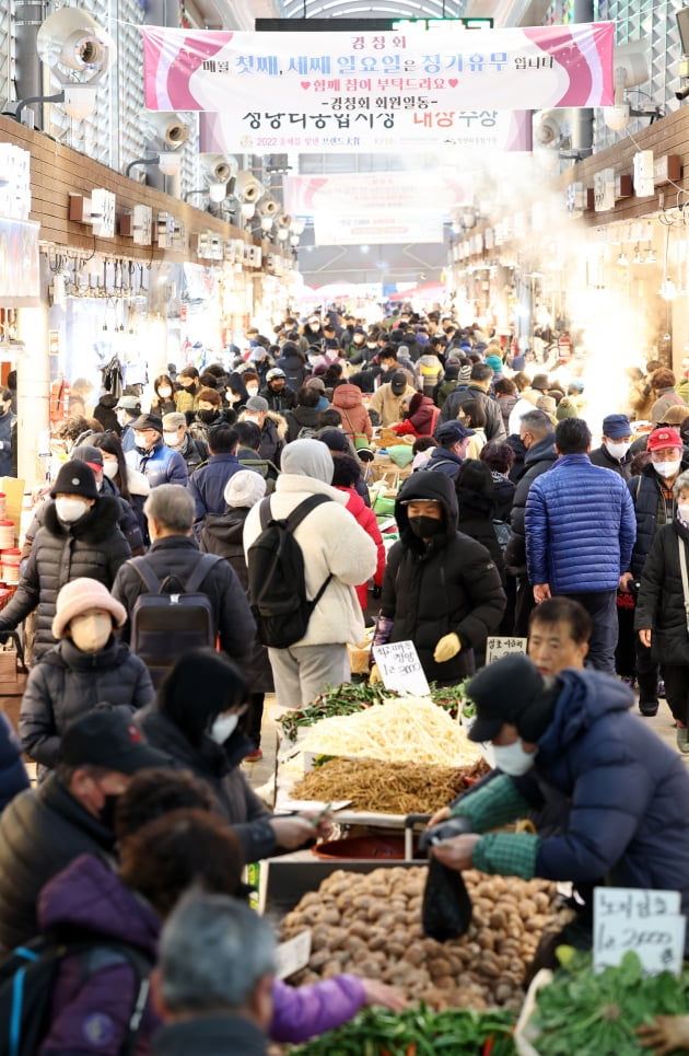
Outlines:
<svg viewBox="0 0 689 1056"><path fill-rule="evenodd" d="M147 564L161 582L168 580L170 590L175 583L177 590L184 590L199 560L205 559L191 537L194 499L177 484L161 484L145 500L143 512L151 536ZM223 652L242 666L253 648L256 624L236 573L226 561L219 561L201 581L199 590L210 601ZM143 580L132 562L127 561L113 585L113 596L129 614L129 622L122 629L122 638L127 641L137 597L144 593Z"/></svg>

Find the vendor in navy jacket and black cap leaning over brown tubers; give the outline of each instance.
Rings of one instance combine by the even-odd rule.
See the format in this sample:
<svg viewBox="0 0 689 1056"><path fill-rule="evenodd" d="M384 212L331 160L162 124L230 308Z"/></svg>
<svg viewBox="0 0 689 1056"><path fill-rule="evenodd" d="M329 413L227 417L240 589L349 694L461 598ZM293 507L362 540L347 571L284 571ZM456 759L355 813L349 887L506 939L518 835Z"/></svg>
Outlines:
<svg viewBox="0 0 689 1056"><path fill-rule="evenodd" d="M477 716L469 738L491 743L497 771L431 819L432 854L457 871L574 883L577 916L544 944L540 967L554 966L554 947L574 937L591 945L594 886L675 890L689 909L689 775L630 715L628 686L571 668L544 677L515 655L479 672L467 693ZM552 835L491 832L553 797L569 809Z"/></svg>

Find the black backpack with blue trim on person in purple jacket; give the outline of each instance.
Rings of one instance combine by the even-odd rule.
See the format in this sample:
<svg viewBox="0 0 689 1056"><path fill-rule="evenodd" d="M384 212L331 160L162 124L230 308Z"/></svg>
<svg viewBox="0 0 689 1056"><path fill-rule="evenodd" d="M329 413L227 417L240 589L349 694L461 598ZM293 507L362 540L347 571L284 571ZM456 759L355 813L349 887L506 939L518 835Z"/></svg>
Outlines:
<svg viewBox="0 0 689 1056"><path fill-rule="evenodd" d="M103 937L74 941L40 936L17 947L0 964L0 1053L35 1056L50 1026L52 991L62 958L82 956L82 978L127 961L136 975L136 998L119 1056L131 1056L149 996L152 960L125 942Z"/></svg>

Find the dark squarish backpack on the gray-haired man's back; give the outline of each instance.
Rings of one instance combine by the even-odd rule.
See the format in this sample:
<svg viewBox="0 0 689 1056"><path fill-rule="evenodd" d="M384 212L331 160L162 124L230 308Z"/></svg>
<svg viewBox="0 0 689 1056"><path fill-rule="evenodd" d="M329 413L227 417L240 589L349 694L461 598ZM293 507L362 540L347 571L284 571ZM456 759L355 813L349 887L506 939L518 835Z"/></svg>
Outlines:
<svg viewBox="0 0 689 1056"><path fill-rule="evenodd" d="M180 581L167 576L161 582L145 557L133 557L131 567L139 573L147 593L139 594L131 613L131 651L143 660L157 688L178 657L190 649L214 648L217 627L213 607L200 587L215 565L224 560L214 554L199 559L182 590Z"/></svg>

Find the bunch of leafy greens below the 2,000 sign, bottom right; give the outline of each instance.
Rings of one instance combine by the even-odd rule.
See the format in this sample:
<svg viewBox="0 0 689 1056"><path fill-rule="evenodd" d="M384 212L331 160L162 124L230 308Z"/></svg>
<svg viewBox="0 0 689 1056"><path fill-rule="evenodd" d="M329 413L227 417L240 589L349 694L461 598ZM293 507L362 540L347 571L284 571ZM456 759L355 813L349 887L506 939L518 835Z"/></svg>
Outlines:
<svg viewBox="0 0 689 1056"><path fill-rule="evenodd" d="M655 1016L687 1012L689 973L644 976L633 952L594 974L592 956L567 951L565 965L536 998L533 1024L541 1056L638 1056L634 1028Z"/></svg>

